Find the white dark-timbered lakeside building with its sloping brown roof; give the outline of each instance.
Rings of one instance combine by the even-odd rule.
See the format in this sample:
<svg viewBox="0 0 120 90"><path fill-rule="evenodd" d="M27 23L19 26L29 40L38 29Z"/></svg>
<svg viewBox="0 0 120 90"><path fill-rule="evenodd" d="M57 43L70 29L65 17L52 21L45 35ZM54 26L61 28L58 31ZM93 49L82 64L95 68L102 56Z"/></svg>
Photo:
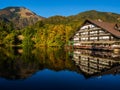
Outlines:
<svg viewBox="0 0 120 90"><path fill-rule="evenodd" d="M86 20L70 39L75 48L120 48L120 26L114 23Z"/></svg>

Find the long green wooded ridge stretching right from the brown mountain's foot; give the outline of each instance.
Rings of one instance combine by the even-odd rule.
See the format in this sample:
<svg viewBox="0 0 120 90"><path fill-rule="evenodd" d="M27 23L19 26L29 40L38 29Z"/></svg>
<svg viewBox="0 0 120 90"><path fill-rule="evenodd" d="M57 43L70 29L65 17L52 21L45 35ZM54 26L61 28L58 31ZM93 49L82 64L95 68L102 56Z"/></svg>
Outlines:
<svg viewBox="0 0 120 90"><path fill-rule="evenodd" d="M118 23L120 22L120 14L112 13L112 12L100 12L96 10L90 10L81 12L76 15L71 15L68 17L64 16L52 16L45 20L46 23L53 23L53 24L76 24L76 23L83 23L84 20L91 19L91 20L102 20L104 22L111 22L111 23Z"/></svg>

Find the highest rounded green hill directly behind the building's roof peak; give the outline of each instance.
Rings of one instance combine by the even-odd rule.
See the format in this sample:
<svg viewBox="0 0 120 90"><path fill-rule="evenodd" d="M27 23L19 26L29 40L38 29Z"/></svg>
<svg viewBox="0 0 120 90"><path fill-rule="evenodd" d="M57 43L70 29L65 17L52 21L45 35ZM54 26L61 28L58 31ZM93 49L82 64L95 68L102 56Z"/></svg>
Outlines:
<svg viewBox="0 0 120 90"><path fill-rule="evenodd" d="M67 17L71 21L83 21L85 19L98 20L101 19L105 22L120 22L120 14L112 12L100 12L96 10L90 10L81 12L77 15Z"/></svg>

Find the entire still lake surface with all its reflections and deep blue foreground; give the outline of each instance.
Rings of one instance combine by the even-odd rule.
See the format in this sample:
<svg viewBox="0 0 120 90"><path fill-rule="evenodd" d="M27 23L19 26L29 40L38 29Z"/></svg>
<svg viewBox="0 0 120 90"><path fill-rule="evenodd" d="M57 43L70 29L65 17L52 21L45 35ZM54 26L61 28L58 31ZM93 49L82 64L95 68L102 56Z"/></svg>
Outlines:
<svg viewBox="0 0 120 90"><path fill-rule="evenodd" d="M120 53L0 48L0 90L120 90Z"/></svg>

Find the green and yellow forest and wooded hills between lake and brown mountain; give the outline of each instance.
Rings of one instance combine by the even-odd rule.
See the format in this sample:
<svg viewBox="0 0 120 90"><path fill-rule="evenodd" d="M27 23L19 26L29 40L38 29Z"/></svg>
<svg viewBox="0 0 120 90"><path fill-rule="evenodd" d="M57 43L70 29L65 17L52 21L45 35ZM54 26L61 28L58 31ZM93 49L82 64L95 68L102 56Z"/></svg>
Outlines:
<svg viewBox="0 0 120 90"><path fill-rule="evenodd" d="M11 10L13 12L13 9ZM40 19L38 22L32 25L26 24L26 22L23 23L23 25L25 24L27 25L27 27L20 27L21 30L16 30L14 26L15 24L12 19L8 20L5 17L1 17L0 44L22 46L29 45L36 47L64 46L65 44L67 44L69 38L75 33L76 30L79 29L81 24L86 19L102 20L110 23L120 23L119 14L91 10L68 17L52 16L49 18Z"/></svg>

